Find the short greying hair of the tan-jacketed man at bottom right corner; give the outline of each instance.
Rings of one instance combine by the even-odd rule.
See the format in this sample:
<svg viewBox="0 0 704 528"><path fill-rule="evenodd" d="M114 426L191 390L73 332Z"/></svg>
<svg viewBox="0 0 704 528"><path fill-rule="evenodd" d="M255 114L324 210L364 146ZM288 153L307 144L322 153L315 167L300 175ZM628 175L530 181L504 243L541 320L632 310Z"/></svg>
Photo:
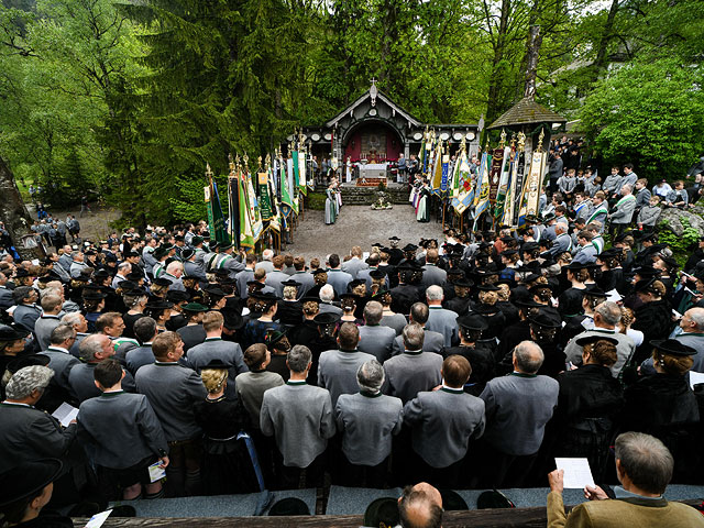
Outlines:
<svg viewBox="0 0 704 528"><path fill-rule="evenodd" d="M672 480L674 459L657 438L644 432L624 432L616 437L616 460L634 485L662 495Z"/></svg>

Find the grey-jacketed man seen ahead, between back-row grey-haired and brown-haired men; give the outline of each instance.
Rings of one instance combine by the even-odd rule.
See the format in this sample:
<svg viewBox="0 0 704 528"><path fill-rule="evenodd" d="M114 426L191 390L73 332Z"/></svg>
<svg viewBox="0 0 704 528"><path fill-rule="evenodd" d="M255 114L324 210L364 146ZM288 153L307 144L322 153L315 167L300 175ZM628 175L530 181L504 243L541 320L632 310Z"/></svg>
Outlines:
<svg viewBox="0 0 704 528"><path fill-rule="evenodd" d="M400 398L404 404L415 398L418 393L431 391L442 382L442 356L422 351L424 334L420 324L406 326L402 333L404 353L384 363L385 393Z"/></svg>

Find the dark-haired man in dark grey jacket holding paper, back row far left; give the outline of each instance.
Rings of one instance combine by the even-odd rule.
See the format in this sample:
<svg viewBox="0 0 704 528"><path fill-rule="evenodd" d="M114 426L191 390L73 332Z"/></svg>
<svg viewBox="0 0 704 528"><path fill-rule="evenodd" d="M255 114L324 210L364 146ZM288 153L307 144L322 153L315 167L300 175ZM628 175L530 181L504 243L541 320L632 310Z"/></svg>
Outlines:
<svg viewBox="0 0 704 528"><path fill-rule="evenodd" d="M168 465L168 446L146 396L122 391L124 371L117 360L100 362L94 375L102 394L80 404L76 420L78 438L97 466L101 495L132 501L144 486L145 498L162 497L162 481L152 483L147 468Z"/></svg>

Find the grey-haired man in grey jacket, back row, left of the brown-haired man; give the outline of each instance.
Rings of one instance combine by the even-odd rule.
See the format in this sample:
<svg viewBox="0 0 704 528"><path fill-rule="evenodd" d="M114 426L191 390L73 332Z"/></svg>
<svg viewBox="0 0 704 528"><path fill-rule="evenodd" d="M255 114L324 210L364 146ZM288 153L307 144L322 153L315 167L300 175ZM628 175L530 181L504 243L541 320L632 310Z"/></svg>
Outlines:
<svg viewBox="0 0 704 528"><path fill-rule="evenodd" d="M358 369L356 383L360 392L341 395L334 409L344 454L339 476L345 486L377 487L386 477L392 439L404 422L403 404L382 394L384 367L376 360Z"/></svg>

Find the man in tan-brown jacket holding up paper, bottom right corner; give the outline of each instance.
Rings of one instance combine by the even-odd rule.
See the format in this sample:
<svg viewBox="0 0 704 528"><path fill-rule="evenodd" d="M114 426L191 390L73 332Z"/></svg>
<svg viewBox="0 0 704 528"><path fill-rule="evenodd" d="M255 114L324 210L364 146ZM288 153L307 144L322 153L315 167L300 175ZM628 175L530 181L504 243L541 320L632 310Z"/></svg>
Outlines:
<svg viewBox="0 0 704 528"><path fill-rule="evenodd" d="M673 465L672 454L657 438L641 432L619 435L616 474L622 485L612 494L600 486L586 485L584 496L590 502L575 506L566 515L562 503L565 470L553 471L548 475L548 528L704 527L704 517L696 509L670 503L662 496L672 479Z"/></svg>

